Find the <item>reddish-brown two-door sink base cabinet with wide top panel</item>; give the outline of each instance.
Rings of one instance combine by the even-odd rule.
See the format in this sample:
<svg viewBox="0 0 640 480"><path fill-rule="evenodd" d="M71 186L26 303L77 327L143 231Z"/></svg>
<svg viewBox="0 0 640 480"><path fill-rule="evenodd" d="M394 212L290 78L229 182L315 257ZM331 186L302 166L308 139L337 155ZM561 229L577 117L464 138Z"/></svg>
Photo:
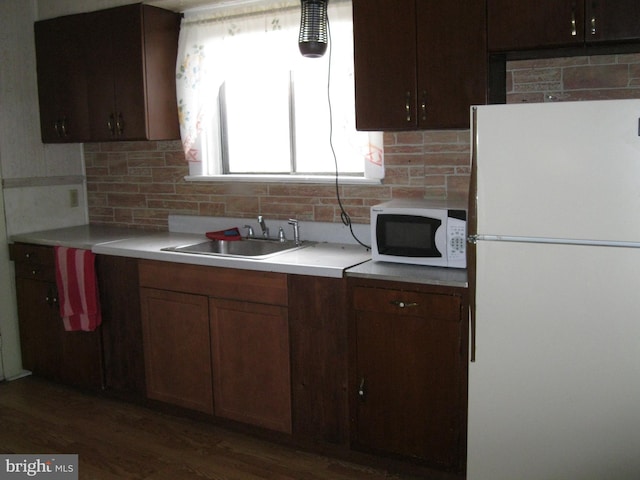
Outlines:
<svg viewBox="0 0 640 480"><path fill-rule="evenodd" d="M287 275L139 263L149 398L291 433Z"/></svg>

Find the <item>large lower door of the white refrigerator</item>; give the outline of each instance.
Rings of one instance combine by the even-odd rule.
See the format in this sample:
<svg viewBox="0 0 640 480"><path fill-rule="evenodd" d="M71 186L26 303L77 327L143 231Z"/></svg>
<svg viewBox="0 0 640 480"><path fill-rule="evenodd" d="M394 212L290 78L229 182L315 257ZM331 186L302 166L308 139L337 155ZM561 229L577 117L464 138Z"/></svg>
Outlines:
<svg viewBox="0 0 640 480"><path fill-rule="evenodd" d="M468 480L640 478L640 249L477 244Z"/></svg>

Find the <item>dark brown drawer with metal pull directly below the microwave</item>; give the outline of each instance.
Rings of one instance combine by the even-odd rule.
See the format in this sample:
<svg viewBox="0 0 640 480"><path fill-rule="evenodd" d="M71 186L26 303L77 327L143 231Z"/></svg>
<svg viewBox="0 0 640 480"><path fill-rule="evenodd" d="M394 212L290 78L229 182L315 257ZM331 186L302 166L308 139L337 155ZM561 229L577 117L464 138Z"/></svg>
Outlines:
<svg viewBox="0 0 640 480"><path fill-rule="evenodd" d="M360 311L460 320L461 302L456 295L358 287L353 302Z"/></svg>

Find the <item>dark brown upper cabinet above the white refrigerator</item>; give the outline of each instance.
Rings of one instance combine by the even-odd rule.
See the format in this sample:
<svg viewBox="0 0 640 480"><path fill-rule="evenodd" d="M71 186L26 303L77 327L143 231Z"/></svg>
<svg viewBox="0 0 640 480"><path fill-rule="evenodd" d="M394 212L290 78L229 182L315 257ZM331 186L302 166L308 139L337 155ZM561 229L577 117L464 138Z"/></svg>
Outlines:
<svg viewBox="0 0 640 480"><path fill-rule="evenodd" d="M640 40L637 0L487 0L491 52Z"/></svg>

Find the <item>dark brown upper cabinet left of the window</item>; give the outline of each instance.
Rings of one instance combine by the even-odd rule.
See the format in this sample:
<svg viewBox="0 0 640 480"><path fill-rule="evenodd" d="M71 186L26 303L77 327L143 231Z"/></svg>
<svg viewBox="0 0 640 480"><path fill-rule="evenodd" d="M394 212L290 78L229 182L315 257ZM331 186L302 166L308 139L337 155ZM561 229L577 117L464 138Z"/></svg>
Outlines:
<svg viewBox="0 0 640 480"><path fill-rule="evenodd" d="M142 4L36 22L43 142L180 138L179 29Z"/></svg>

